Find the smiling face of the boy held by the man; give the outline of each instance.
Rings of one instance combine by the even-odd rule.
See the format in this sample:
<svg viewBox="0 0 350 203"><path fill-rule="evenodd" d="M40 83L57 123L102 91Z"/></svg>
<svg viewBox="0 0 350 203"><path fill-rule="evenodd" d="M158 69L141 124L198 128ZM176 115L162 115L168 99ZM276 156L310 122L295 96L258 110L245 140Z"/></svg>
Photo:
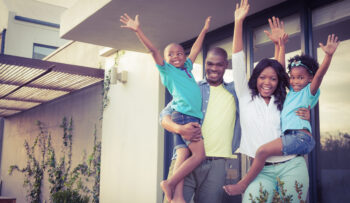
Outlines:
<svg viewBox="0 0 350 203"><path fill-rule="evenodd" d="M186 62L185 51L178 44L170 44L164 50L164 60L176 68L182 68Z"/></svg>

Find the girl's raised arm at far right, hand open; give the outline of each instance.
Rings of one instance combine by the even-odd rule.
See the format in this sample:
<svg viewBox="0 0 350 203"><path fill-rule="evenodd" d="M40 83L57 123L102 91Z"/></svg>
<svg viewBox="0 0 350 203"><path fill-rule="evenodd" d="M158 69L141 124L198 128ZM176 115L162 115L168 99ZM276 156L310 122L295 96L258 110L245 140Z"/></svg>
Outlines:
<svg viewBox="0 0 350 203"><path fill-rule="evenodd" d="M339 45L338 37L335 36L334 34L328 35L326 46L324 46L322 43L320 43L319 45L326 55L324 56L324 59L322 61L320 68L317 70L314 78L312 79L312 82L310 85L310 90L312 95L316 94L318 88L322 83L323 76L326 74L329 68L329 65L332 61L333 54Z"/></svg>

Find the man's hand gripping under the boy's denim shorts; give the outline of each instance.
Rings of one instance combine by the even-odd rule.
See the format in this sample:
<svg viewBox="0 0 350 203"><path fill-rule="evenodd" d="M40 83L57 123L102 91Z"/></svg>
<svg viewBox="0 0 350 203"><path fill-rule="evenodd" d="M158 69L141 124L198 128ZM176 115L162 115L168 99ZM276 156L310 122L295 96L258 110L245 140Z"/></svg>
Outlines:
<svg viewBox="0 0 350 203"><path fill-rule="evenodd" d="M202 138L201 126L198 123L187 123L185 125L179 125L177 133L185 140L191 142L197 142Z"/></svg>

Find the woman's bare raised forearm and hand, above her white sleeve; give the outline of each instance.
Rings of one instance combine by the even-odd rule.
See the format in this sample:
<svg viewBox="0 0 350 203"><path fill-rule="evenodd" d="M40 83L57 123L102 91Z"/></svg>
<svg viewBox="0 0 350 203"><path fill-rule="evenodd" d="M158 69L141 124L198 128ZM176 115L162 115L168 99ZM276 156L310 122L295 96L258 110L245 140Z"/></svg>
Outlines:
<svg viewBox="0 0 350 203"><path fill-rule="evenodd" d="M243 21L249 11L248 0L241 0L241 4L236 4L235 28L233 31L232 53L243 50Z"/></svg>

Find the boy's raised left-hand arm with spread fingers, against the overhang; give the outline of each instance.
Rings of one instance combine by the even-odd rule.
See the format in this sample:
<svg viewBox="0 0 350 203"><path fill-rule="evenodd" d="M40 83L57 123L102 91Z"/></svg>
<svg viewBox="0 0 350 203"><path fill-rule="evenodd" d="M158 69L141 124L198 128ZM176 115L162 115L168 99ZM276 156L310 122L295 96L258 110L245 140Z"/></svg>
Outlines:
<svg viewBox="0 0 350 203"><path fill-rule="evenodd" d="M142 42L142 44L152 53L152 57L156 64L164 65L163 57L160 54L159 50L152 44L152 42L146 37L146 35L142 32L140 28L139 15L135 16L135 20L130 18L130 16L124 13L123 16L120 16L120 22L124 25L121 25L122 28L127 28L134 31Z"/></svg>

